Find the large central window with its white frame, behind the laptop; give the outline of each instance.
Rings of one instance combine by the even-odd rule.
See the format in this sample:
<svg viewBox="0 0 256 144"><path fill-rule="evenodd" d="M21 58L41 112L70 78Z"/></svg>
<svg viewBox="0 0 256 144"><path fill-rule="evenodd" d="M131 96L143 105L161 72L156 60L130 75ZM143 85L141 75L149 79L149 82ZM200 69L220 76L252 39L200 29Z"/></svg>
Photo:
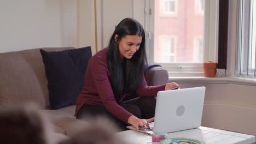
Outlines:
<svg viewBox="0 0 256 144"><path fill-rule="evenodd" d="M180 10L178 16L167 17L160 14L167 9L162 7L163 2L167 3L164 0L150 0L148 11L152 14L146 10L146 47L149 51L149 63L162 65L170 76L203 76L202 63L217 60L218 1L168 1L169 4L175 3ZM196 3L201 4L198 6L200 10L206 10L201 15L195 15L196 7L191 7ZM168 9L172 8L168 6ZM175 37L167 38L163 35Z"/></svg>

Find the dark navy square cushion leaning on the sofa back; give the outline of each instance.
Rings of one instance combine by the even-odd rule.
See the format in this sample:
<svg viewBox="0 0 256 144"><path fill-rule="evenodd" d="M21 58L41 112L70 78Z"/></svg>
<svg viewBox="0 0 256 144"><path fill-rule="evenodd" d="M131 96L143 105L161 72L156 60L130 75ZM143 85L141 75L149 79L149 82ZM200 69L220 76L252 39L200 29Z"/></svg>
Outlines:
<svg viewBox="0 0 256 144"><path fill-rule="evenodd" d="M40 50L48 80L51 109L74 105L84 86L91 47L64 51Z"/></svg>

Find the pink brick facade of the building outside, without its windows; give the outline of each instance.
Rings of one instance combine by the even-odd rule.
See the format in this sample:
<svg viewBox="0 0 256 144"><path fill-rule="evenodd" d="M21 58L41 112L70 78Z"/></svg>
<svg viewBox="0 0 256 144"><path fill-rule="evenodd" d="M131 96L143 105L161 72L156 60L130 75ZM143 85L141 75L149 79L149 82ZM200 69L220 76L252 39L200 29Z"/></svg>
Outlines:
<svg viewBox="0 0 256 144"><path fill-rule="evenodd" d="M203 35L203 15L195 16L193 14L193 9L190 8L191 2L187 0L185 3L179 3L178 7L182 7L187 9L187 11L183 10L179 19L177 17L162 17L155 15L155 51L159 51L160 55L155 55L154 59L160 59L159 57L166 57L166 51L164 47L160 47L158 43L166 42L166 41L158 41L161 39L161 35L177 35L177 39L179 39L178 43L178 51L173 59L176 59L175 62L197 62L194 61L194 56L191 53L194 53L193 50L193 39L197 35ZM195 2L195 1L194 1ZM158 4L159 1L155 1L155 5ZM161 7L155 7L155 9L161 9ZM189 11L190 10L190 11ZM156 10L158 11L158 10ZM162 44L164 46L164 44ZM201 57L202 53L194 53L196 57ZM170 56L169 59L171 59ZM163 58L162 58L163 59ZM166 59L166 58L165 58ZM158 61L155 61L158 62ZM171 61L161 61L161 62L171 62ZM174 61L172 61L174 62ZM202 63L202 61L200 61Z"/></svg>

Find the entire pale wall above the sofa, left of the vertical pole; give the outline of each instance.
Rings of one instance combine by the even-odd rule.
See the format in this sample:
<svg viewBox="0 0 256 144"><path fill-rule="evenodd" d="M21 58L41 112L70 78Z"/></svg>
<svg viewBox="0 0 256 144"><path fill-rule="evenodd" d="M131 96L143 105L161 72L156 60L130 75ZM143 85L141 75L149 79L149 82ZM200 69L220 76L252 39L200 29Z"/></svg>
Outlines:
<svg viewBox="0 0 256 144"><path fill-rule="evenodd" d="M94 52L91 2L94 0L0 1L0 52L62 46L92 46Z"/></svg>

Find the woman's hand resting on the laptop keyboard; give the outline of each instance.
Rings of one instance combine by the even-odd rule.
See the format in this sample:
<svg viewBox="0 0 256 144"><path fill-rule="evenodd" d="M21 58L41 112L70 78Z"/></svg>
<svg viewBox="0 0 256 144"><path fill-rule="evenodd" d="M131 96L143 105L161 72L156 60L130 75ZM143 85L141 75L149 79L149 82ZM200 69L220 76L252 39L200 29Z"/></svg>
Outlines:
<svg viewBox="0 0 256 144"><path fill-rule="evenodd" d="M153 122L154 119L155 119L154 117L149 119L140 119L132 115L128 118L128 123L133 125L133 127L139 130L139 126L149 128L149 123Z"/></svg>

